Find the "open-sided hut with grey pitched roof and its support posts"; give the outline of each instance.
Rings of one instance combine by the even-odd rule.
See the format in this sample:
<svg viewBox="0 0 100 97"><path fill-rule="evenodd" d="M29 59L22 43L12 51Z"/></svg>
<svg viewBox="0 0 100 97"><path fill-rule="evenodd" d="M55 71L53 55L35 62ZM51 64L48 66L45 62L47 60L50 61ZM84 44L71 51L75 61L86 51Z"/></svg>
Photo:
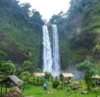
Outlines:
<svg viewBox="0 0 100 97"><path fill-rule="evenodd" d="M6 79L2 80L0 82L1 86L1 95L3 94L3 87L5 88L5 93L7 93L7 87L12 87L12 86L20 86L23 83L21 79L16 77L15 75L8 76Z"/></svg>

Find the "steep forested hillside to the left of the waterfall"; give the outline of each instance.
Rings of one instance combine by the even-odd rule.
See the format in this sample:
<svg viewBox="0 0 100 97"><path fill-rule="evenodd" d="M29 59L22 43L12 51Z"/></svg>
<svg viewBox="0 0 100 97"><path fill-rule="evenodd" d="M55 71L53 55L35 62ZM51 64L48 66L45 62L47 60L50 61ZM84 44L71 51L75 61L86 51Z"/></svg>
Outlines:
<svg viewBox="0 0 100 97"><path fill-rule="evenodd" d="M30 7L17 0L0 0L0 50L7 54L6 60L16 64L27 59L35 65L40 62L43 21Z"/></svg>

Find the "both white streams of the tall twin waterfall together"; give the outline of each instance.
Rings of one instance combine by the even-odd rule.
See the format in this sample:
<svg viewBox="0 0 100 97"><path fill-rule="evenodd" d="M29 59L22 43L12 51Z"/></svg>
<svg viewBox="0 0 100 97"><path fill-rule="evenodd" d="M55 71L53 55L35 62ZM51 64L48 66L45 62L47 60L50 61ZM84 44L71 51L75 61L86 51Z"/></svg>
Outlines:
<svg viewBox="0 0 100 97"><path fill-rule="evenodd" d="M52 25L52 46L48 28L43 26L43 72L50 72L54 77L60 75L60 57L57 26Z"/></svg>

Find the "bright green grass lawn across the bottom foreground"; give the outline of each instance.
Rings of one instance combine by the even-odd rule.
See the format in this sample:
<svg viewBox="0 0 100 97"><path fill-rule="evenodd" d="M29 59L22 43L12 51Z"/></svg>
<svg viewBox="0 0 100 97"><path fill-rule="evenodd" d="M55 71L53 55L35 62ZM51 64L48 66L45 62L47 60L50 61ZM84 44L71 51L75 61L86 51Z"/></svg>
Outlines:
<svg viewBox="0 0 100 97"><path fill-rule="evenodd" d="M52 91L53 94L47 94L48 91ZM26 85L24 90L24 94L26 96L35 96L35 97L100 97L99 92L89 92L88 94L81 94L80 91L73 93L70 96L67 96L65 93L65 89L57 90L53 88L49 88L48 90L44 90L42 86L33 86ZM97 96L98 95L98 96Z"/></svg>

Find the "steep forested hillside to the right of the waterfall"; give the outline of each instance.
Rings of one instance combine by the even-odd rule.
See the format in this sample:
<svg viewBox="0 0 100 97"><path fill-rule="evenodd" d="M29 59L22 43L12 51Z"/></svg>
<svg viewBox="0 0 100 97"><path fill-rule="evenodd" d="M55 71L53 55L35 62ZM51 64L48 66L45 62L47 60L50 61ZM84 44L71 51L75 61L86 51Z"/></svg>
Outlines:
<svg viewBox="0 0 100 97"><path fill-rule="evenodd" d="M70 5L50 20L58 25L62 68L88 60L100 70L100 1L71 0Z"/></svg>

